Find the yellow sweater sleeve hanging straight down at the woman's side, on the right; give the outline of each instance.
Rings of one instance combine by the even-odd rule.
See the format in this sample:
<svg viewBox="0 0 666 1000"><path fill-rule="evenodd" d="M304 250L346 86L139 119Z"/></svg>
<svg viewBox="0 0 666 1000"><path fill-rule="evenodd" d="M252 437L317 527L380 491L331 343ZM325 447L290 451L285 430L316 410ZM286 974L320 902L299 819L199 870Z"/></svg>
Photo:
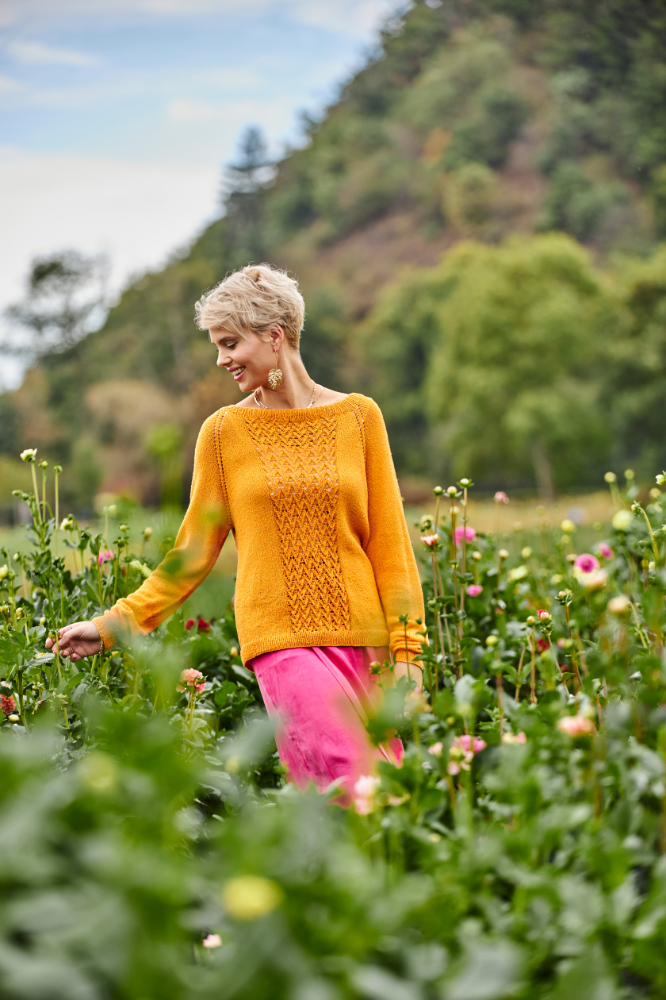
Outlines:
<svg viewBox="0 0 666 1000"><path fill-rule="evenodd" d="M364 407L366 476L370 539L366 553L375 571L377 590L389 629L395 660L413 660L421 653L424 620L423 591L414 550L407 532L388 434L381 410L373 400ZM400 621L407 616L406 625Z"/></svg>

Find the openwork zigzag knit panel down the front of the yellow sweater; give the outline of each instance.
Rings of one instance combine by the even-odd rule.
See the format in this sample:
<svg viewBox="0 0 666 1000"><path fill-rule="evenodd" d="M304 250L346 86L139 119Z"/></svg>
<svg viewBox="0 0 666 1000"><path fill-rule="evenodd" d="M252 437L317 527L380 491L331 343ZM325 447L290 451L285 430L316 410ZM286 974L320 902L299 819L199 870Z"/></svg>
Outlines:
<svg viewBox="0 0 666 1000"><path fill-rule="evenodd" d="M336 527L335 414L302 422L248 420L246 426L268 481L292 628L349 629Z"/></svg>

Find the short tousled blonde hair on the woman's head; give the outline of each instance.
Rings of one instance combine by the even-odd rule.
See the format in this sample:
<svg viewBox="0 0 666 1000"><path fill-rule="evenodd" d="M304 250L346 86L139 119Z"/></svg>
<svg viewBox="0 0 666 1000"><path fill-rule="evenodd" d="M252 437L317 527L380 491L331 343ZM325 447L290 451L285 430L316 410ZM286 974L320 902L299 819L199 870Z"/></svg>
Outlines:
<svg viewBox="0 0 666 1000"><path fill-rule="evenodd" d="M200 330L221 327L244 337L275 323L295 348L303 329L305 303L298 282L270 264L248 264L202 295L194 307Z"/></svg>

